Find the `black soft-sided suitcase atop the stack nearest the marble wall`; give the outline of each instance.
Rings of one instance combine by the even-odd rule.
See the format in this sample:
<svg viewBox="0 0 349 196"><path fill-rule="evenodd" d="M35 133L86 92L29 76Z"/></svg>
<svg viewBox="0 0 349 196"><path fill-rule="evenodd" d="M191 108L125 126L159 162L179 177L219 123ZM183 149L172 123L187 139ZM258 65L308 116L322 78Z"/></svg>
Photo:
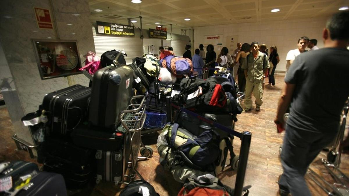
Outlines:
<svg viewBox="0 0 349 196"><path fill-rule="evenodd" d="M47 111L50 134L66 135L83 122L90 95L90 88L78 84L48 93L40 109Z"/></svg>

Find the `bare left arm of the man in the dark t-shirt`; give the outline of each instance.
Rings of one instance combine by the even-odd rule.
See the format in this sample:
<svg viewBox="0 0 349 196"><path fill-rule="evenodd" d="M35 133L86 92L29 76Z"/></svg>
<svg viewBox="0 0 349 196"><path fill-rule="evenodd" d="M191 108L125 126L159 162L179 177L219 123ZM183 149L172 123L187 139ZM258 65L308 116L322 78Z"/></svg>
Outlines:
<svg viewBox="0 0 349 196"><path fill-rule="evenodd" d="M282 89L282 92L281 92L279 103L277 104L276 117L274 119L274 122L276 124L281 123L282 126L284 126L285 122L284 122L283 116L286 113L288 107L290 106L295 87L296 87L295 84L285 82L284 88Z"/></svg>

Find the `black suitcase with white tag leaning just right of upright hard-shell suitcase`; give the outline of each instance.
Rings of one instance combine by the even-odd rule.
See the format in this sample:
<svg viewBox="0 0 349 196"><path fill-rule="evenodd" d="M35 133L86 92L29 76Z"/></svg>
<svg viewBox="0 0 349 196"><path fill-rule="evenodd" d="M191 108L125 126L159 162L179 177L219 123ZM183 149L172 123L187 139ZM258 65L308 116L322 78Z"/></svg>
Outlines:
<svg viewBox="0 0 349 196"><path fill-rule="evenodd" d="M137 65L132 63L128 66L133 69L133 88L136 89L137 95L144 95L149 89L149 80Z"/></svg>

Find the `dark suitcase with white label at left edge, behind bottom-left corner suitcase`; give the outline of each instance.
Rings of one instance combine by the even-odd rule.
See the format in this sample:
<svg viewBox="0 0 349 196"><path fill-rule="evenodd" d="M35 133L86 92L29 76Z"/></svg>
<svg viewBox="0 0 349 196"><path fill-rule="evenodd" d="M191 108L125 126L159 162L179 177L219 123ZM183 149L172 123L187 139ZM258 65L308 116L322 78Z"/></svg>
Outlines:
<svg viewBox="0 0 349 196"><path fill-rule="evenodd" d="M22 176L34 176L39 172L39 168L35 163L25 161L12 161L0 163L0 179L3 189L14 191L23 180ZM9 182L6 186L6 182Z"/></svg>

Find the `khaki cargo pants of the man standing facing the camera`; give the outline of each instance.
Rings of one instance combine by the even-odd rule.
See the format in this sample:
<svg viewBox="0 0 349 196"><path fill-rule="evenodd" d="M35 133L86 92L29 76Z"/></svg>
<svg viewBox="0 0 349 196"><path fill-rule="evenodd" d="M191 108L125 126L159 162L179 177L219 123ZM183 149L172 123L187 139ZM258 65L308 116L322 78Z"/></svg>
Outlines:
<svg viewBox="0 0 349 196"><path fill-rule="evenodd" d="M254 103L256 106L261 106L263 104L263 89L262 89L263 81L254 81L251 82L248 77L246 78L246 87L245 87L245 110L248 110L252 107L252 92L253 96L256 98Z"/></svg>

